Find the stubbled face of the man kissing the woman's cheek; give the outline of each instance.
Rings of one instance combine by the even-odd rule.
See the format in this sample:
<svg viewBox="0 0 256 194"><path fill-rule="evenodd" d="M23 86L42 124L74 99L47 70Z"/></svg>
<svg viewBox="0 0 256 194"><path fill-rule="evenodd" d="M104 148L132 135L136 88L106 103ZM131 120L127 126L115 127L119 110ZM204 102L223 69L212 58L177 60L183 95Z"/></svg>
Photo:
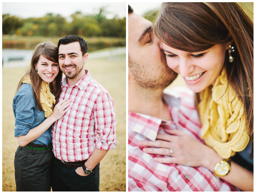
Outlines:
<svg viewBox="0 0 256 194"><path fill-rule="evenodd" d="M128 14L129 72L142 87L164 89L177 77L167 66L161 45L150 21L135 13Z"/></svg>

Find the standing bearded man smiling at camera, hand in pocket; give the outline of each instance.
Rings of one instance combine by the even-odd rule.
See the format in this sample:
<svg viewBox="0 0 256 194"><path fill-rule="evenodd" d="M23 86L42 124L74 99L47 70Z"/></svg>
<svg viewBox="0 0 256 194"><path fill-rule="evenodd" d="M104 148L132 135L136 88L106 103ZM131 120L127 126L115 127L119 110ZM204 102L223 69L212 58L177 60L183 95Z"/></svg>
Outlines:
<svg viewBox="0 0 256 194"><path fill-rule="evenodd" d="M59 101L72 101L52 126L52 191L99 191L99 162L117 145L113 99L84 69L88 53L82 37L60 39L58 52L66 75Z"/></svg>

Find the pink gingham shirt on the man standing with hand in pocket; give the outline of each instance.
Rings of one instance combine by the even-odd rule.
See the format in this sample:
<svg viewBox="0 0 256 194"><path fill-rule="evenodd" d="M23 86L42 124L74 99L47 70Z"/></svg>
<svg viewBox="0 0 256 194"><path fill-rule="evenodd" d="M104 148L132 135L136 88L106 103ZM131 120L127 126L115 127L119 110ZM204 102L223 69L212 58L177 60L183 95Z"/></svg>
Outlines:
<svg viewBox="0 0 256 194"><path fill-rule="evenodd" d="M117 145L115 137L115 108L106 89L86 70L75 85L61 82L59 101L71 99L65 115L52 125L53 153L57 159L83 161L93 150L111 150Z"/></svg>

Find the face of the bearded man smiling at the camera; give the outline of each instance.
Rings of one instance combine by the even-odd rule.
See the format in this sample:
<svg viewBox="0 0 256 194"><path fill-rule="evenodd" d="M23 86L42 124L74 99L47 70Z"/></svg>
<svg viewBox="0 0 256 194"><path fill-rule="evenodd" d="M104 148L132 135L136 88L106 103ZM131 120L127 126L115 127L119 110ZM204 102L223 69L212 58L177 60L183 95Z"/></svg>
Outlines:
<svg viewBox="0 0 256 194"><path fill-rule="evenodd" d="M82 55L79 42L59 46L59 65L61 71L69 79L81 79L83 77L82 69L87 59L88 54Z"/></svg>

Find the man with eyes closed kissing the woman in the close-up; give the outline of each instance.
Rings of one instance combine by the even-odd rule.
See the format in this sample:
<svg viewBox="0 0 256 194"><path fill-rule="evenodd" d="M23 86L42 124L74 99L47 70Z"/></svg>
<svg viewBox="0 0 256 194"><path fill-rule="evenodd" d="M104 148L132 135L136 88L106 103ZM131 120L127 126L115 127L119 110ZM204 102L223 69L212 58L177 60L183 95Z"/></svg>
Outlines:
<svg viewBox="0 0 256 194"><path fill-rule="evenodd" d="M169 157L172 149L167 156L143 152L141 141L155 141L164 129L179 129L200 141L200 122L193 94L163 93L177 74L166 65L152 23L130 6L128 45L128 191L236 191L204 167L154 161L154 157Z"/></svg>

